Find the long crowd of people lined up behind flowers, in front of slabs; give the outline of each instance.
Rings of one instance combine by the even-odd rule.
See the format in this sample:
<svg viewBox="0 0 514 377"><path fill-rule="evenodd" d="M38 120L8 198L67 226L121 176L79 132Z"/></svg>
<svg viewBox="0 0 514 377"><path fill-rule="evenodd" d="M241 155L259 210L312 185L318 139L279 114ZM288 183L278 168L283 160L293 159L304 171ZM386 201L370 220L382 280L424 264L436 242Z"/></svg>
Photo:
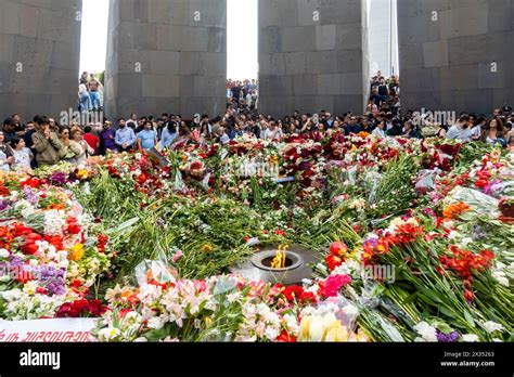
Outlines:
<svg viewBox="0 0 514 377"><path fill-rule="evenodd" d="M184 119L180 115L162 114L156 119L131 114L128 119L117 119L116 125L105 120L86 126L74 122L70 127L39 115L25 125L22 117L14 114L3 121L0 130L0 170L29 170L59 161L81 165L92 155L174 150L187 143L281 142L296 134L318 142L336 133L446 138L461 142L481 141L514 150L513 125L514 113L509 106L494 109L489 118L463 113L452 125L433 125L429 133L413 122L412 112L404 116L391 112L368 112L362 116L351 113L334 116L325 110L313 115L294 112L275 119L229 106L224 116L215 118L195 114L192 119Z"/></svg>

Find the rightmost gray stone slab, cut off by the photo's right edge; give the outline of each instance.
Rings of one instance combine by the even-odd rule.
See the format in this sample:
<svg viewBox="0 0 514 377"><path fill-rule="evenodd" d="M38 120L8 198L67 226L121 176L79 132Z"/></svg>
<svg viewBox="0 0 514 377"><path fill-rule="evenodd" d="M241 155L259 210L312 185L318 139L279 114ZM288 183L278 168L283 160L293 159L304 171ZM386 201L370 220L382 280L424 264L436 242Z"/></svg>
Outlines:
<svg viewBox="0 0 514 377"><path fill-rule="evenodd" d="M513 0L398 0L398 35L403 110L514 104Z"/></svg>

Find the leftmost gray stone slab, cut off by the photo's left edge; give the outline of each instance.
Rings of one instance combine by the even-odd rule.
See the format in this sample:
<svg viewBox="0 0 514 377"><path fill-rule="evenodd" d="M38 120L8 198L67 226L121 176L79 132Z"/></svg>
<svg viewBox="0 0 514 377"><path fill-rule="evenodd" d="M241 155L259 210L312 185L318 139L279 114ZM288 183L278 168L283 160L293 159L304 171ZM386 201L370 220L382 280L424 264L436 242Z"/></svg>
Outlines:
<svg viewBox="0 0 514 377"><path fill-rule="evenodd" d="M81 0L0 0L0 118L77 107Z"/></svg>

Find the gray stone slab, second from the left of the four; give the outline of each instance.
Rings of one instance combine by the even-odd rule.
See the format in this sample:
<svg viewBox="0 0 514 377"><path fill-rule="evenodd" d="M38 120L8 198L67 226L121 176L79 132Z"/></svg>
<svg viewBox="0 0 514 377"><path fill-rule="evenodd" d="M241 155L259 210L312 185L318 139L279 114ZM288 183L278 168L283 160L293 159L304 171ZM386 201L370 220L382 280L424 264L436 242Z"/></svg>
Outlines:
<svg viewBox="0 0 514 377"><path fill-rule="evenodd" d="M107 117L224 112L226 0L111 0L110 8Z"/></svg>

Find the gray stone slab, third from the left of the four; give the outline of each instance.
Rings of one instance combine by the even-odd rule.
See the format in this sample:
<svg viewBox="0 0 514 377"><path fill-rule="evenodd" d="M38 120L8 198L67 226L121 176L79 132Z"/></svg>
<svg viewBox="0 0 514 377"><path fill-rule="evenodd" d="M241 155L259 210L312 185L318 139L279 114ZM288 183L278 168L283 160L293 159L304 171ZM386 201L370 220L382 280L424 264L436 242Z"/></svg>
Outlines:
<svg viewBox="0 0 514 377"><path fill-rule="evenodd" d="M260 110L362 113L365 18L364 0L259 0Z"/></svg>

